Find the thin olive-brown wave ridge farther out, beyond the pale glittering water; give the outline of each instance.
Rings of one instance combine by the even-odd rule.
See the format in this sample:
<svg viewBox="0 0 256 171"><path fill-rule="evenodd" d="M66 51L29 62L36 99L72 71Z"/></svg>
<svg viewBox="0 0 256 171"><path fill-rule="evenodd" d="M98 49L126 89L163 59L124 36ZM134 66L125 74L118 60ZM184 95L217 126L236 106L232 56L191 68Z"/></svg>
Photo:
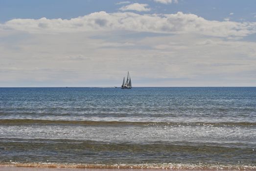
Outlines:
<svg viewBox="0 0 256 171"><path fill-rule="evenodd" d="M85 126L212 126L212 127L252 127L256 122L133 122L133 121L75 121L75 120L43 120L43 119L0 119L4 125L85 125Z"/></svg>

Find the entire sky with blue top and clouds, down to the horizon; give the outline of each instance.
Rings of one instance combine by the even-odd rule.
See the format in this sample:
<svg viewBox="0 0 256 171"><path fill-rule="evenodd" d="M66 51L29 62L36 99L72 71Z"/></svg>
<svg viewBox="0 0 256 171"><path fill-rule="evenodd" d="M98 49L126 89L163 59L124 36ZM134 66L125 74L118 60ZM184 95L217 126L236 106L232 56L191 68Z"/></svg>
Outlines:
<svg viewBox="0 0 256 171"><path fill-rule="evenodd" d="M256 86L256 0L0 0L0 87Z"/></svg>

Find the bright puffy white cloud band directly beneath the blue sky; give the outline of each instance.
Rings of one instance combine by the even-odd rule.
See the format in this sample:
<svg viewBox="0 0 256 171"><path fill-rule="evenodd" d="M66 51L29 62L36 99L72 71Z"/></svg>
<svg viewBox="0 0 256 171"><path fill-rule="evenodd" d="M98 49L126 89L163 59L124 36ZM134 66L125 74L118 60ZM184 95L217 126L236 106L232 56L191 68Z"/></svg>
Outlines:
<svg viewBox="0 0 256 171"><path fill-rule="evenodd" d="M209 21L194 14L140 15L131 12L95 12L70 20L14 19L0 24L2 29L30 33L130 30L152 33L202 34L241 38L256 33L256 22Z"/></svg>

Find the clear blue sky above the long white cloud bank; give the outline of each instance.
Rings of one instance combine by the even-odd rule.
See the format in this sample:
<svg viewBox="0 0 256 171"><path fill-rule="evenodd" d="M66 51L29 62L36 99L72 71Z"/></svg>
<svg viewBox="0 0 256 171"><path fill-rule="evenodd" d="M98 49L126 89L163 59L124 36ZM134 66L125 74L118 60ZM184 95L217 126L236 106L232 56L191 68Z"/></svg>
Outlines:
<svg viewBox="0 0 256 171"><path fill-rule="evenodd" d="M0 21L21 19L70 19L97 11L113 13L121 0L1 0ZM162 4L153 0L130 0L149 4L153 13L192 13L208 20L255 21L255 0L179 0L178 3ZM145 13L145 12L143 12ZM234 13L230 16L230 13Z"/></svg>

